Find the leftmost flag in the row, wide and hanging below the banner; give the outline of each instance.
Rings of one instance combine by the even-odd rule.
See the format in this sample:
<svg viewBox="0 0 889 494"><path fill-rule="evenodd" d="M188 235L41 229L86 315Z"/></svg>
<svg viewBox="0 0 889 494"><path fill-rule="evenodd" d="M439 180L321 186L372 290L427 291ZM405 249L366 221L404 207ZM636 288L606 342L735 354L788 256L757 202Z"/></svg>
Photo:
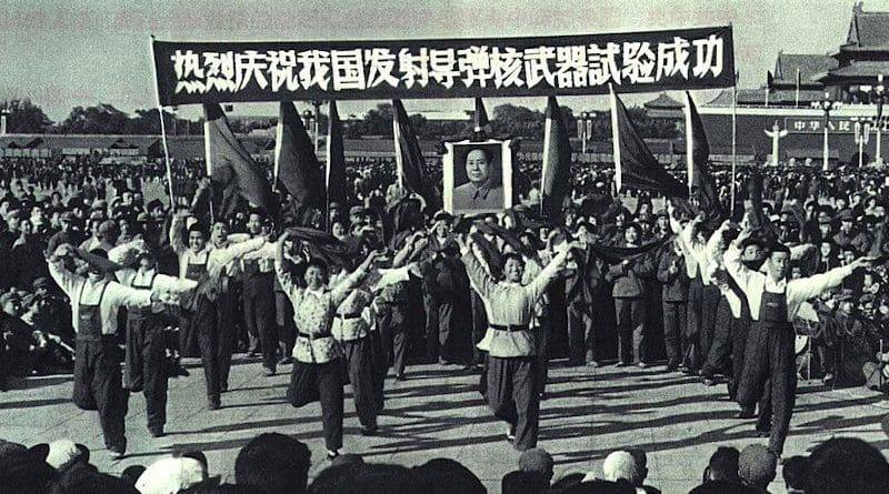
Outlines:
<svg viewBox="0 0 889 494"><path fill-rule="evenodd" d="M207 171L213 184L226 191L222 213L231 213L237 204L233 199L241 196L254 208L276 214L278 200L266 173L238 142L222 109L209 103L203 105L203 113Z"/></svg>

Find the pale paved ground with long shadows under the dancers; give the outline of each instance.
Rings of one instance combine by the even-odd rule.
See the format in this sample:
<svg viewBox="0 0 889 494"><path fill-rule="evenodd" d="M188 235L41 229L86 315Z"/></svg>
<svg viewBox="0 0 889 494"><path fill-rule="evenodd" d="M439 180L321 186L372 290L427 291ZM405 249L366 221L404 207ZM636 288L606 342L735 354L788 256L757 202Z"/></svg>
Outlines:
<svg viewBox="0 0 889 494"><path fill-rule="evenodd" d="M148 464L176 450L203 451L211 474L233 482L241 446L261 432L279 432L306 442L312 451L311 475L326 466L317 403L293 409L284 401L290 366L267 377L258 361L236 357L223 407L204 404L203 375L197 360L186 362L191 375L170 381L168 435L152 438L146 430L144 400L130 396L128 455L112 462L104 451L98 416L71 402L70 376L29 379L0 393L0 437L31 445L70 437L92 450L93 463L119 473ZM351 394L346 394L344 451L370 462L407 466L432 457L451 457L472 470L497 493L500 478L515 470L519 453L506 442L505 425L485 406L478 374L457 366L412 366L408 381L387 380L380 433L362 437ZM725 385L707 387L696 379L667 374L663 366L563 367L552 363L548 399L541 405L540 446L557 462L556 477L572 472L601 472L601 461L621 447L648 452L649 484L665 493L686 493L700 482L707 461L719 445L738 448L756 438L753 423L738 421ZM860 437L886 454L889 438L880 419L889 413L882 395L863 389L825 390L800 383L786 456L803 454L835 435ZM779 473L780 478L780 473ZM772 493L785 492L775 483Z"/></svg>

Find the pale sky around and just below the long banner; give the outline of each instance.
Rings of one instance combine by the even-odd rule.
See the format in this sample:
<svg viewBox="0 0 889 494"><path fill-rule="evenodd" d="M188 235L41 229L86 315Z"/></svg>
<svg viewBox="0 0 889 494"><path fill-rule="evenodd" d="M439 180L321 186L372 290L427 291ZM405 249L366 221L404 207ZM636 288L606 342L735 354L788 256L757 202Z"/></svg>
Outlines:
<svg viewBox="0 0 889 494"><path fill-rule="evenodd" d="M149 36L161 40L377 40L527 37L678 29L731 23L741 87L759 87L779 50L826 53L846 40L851 0L499 1L68 1L0 0L0 100L31 98L53 120L99 102L132 112L154 105ZM865 2L889 11L889 0ZM653 94L638 97L641 102ZM712 92L701 93L700 101ZM491 99L542 109L543 98ZM560 98L575 109L603 97ZM363 113L376 102L343 102ZM408 111L471 109L470 100L407 101ZM196 108L183 108L186 117ZM274 114L239 104L236 113Z"/></svg>

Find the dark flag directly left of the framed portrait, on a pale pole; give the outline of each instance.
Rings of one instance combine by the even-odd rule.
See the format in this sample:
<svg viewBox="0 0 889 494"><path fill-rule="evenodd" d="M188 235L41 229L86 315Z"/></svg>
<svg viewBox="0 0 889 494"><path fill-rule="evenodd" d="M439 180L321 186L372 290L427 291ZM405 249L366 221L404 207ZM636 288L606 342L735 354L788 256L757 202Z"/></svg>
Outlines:
<svg viewBox="0 0 889 494"><path fill-rule="evenodd" d="M441 209L441 194L432 183L426 169L426 160L420 150L420 141L408 120L408 112L401 100L392 100L392 118L396 141L396 161L404 186L426 200L426 206L432 211Z"/></svg>

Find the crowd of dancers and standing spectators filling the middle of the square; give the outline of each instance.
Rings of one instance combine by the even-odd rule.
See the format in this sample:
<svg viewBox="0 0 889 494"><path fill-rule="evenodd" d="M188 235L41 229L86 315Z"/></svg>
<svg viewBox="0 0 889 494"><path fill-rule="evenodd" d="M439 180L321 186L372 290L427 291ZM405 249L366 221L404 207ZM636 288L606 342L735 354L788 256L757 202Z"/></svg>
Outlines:
<svg viewBox="0 0 889 494"><path fill-rule="evenodd" d="M406 380L418 363L480 371L479 391L523 452L537 447L559 359L725 381L775 461L798 375L889 389L879 172L716 169L726 214L715 218L616 193L607 168L583 164L563 214L542 218L527 163L516 206L455 218L377 162L354 163L348 199L326 212L287 208L282 194L278 216L214 215L202 170L174 163L167 205L143 195L152 182L168 190L158 164L0 165L0 389L73 371L73 401L98 411L116 455L129 392L144 394L147 426L164 434L182 356L201 359L208 410L223 406L233 354L260 359L267 375L290 366L288 401L320 401L331 461L343 385L372 435L390 370Z"/></svg>

